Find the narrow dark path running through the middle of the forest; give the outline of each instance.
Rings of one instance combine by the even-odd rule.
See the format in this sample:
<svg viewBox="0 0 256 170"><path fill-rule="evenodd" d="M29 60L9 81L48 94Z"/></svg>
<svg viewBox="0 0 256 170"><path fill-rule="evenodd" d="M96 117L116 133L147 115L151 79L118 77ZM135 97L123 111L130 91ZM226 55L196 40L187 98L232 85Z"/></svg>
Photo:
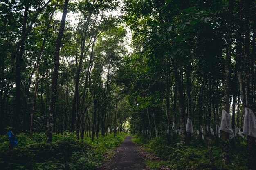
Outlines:
<svg viewBox="0 0 256 170"><path fill-rule="evenodd" d="M118 153L104 170L146 170L146 165L139 155L131 136L126 136L119 146Z"/></svg>

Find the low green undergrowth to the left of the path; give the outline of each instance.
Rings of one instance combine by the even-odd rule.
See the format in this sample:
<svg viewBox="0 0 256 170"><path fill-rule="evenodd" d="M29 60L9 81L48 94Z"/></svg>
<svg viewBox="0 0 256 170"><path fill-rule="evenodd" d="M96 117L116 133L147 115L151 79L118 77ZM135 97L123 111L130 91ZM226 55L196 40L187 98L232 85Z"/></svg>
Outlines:
<svg viewBox="0 0 256 170"><path fill-rule="evenodd" d="M89 137L77 140L74 133L54 134L53 142L45 142L44 133L28 137L16 135L18 146L9 151L7 135L0 136L1 170L96 170L101 163L114 154L125 133L100 136L91 141Z"/></svg>

